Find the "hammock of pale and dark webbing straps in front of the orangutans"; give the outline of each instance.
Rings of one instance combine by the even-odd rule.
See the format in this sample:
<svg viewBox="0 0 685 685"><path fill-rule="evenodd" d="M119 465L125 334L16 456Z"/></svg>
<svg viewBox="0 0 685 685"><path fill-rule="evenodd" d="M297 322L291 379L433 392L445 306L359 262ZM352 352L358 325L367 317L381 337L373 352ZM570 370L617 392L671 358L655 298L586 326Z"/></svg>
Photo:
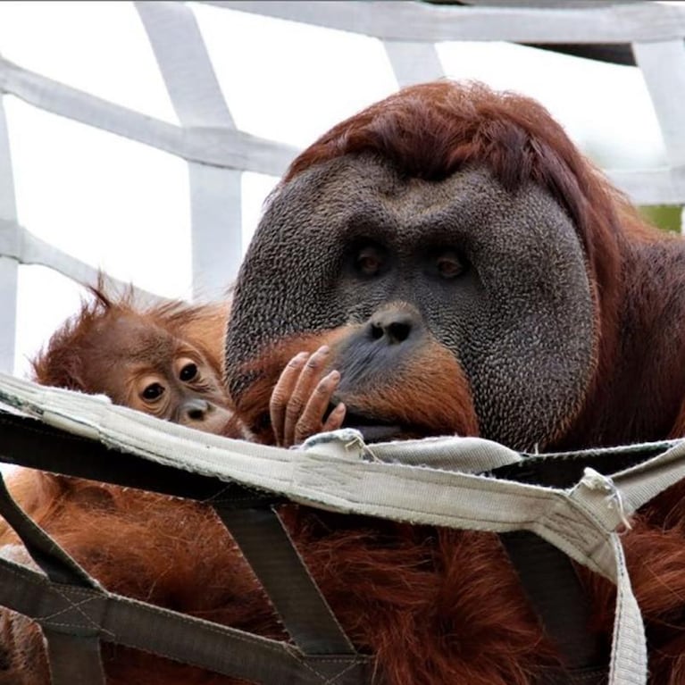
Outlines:
<svg viewBox="0 0 685 685"><path fill-rule="evenodd" d="M0 558L0 603L41 625L54 685L104 682L100 639L255 682L370 682L368 657L355 652L278 525L272 506L285 500L399 522L535 533L617 585L608 682L647 681L644 629L616 530L685 476L685 441L536 456L474 438L367 446L357 431L338 430L281 449L199 433L105 397L4 375L0 402L4 462L213 504L296 645L107 592L21 514L3 485L2 514L43 573ZM115 460L108 456L112 449L121 453ZM520 481L531 473L544 481L545 472L572 482L550 487ZM255 539L268 542L255 545ZM273 571L272 555L287 572ZM292 582L305 599L304 614L282 601L294 591ZM74 680L75 672L88 675Z"/></svg>

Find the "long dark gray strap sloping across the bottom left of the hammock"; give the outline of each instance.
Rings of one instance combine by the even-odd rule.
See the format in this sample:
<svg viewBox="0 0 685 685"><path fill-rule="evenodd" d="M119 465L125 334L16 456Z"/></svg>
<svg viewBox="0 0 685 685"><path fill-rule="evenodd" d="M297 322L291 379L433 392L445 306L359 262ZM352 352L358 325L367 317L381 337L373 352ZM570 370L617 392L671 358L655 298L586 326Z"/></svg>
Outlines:
<svg viewBox="0 0 685 685"><path fill-rule="evenodd" d="M0 605L35 619L48 632L102 639L196 665L262 685L364 685L371 682L371 664L360 655L305 656L286 642L261 638L217 623L148 605L101 589L60 585L42 573L0 558ZM93 673L73 646L78 675L59 685L97 685ZM54 643L55 653L61 646ZM76 656L75 656L76 655ZM52 656L52 654L51 654ZM64 658L67 658L66 656ZM57 664L62 667L61 663ZM62 674L63 671L60 671Z"/></svg>

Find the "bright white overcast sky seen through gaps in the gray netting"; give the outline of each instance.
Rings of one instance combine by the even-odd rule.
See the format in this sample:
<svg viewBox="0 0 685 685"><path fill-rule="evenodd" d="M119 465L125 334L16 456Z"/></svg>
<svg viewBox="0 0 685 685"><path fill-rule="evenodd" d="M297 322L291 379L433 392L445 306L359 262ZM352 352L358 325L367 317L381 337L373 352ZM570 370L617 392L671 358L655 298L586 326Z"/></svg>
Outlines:
<svg viewBox="0 0 685 685"><path fill-rule="evenodd" d="M380 42L341 31L192 7L238 128L295 146L397 89ZM664 149L639 70L503 44L438 46L447 76L534 96L572 138L616 168L658 166ZM0 54L22 67L178 122L129 2L1 2ZM186 164L4 97L19 220L123 280L190 295ZM246 173L246 237L276 179ZM160 247L163 245L163 252ZM230 274L227 274L227 284ZM15 372L24 375L81 288L22 267Z"/></svg>

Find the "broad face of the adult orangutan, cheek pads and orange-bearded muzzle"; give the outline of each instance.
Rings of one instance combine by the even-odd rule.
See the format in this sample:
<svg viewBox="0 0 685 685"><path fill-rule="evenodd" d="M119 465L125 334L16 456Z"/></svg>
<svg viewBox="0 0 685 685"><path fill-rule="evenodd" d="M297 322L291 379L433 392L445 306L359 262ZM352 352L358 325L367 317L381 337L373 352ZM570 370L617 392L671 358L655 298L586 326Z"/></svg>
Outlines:
<svg viewBox="0 0 685 685"><path fill-rule="evenodd" d="M365 156L336 159L284 188L263 219L236 291L230 388L240 405L237 370L255 343L311 336L330 344L323 371L340 373L327 381L335 412L347 406L346 424L367 439L480 432L547 444L594 372L593 297L572 222L539 188L506 192L480 168L429 182ZM299 437L315 427L300 422Z"/></svg>

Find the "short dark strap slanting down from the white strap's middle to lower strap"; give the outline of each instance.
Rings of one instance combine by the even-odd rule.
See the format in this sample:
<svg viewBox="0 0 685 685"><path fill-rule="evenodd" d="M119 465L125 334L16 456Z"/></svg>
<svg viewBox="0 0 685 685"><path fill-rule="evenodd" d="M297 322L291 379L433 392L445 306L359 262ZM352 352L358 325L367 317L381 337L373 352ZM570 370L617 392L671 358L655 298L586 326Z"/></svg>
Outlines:
<svg viewBox="0 0 685 685"><path fill-rule="evenodd" d="M355 647L297 553L279 515L272 509L214 508L297 647L310 655L354 655Z"/></svg>

